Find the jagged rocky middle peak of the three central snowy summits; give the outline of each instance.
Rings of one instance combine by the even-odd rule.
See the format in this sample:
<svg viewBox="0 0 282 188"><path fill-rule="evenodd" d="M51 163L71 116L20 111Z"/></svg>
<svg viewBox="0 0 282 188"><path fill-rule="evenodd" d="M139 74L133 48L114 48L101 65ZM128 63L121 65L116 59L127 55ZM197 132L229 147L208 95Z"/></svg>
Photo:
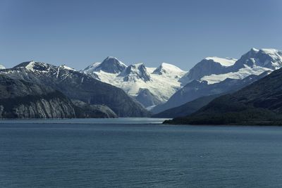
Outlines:
<svg viewBox="0 0 282 188"><path fill-rule="evenodd" d="M123 80L125 82L128 82L130 80L133 80L133 81L143 80L144 82L147 82L151 79L144 63L137 63L137 64L129 65L118 76L124 77Z"/></svg>

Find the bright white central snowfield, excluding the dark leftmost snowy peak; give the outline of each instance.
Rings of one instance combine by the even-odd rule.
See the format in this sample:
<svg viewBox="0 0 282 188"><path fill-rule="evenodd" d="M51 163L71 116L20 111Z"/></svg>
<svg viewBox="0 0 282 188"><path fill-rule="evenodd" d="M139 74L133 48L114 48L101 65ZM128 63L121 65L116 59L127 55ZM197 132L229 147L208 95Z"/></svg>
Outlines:
<svg viewBox="0 0 282 188"><path fill-rule="evenodd" d="M157 68L147 68L144 63L129 65L120 74L106 73L102 70L87 70L86 68L83 73L96 74L102 82L120 87L131 96L137 96L140 88L149 89L149 92L157 96L157 99L165 102L180 89L178 80L187 72L168 63L161 63L160 67L166 70L167 74L155 74L154 71ZM144 80L145 77L149 77L149 80Z"/></svg>

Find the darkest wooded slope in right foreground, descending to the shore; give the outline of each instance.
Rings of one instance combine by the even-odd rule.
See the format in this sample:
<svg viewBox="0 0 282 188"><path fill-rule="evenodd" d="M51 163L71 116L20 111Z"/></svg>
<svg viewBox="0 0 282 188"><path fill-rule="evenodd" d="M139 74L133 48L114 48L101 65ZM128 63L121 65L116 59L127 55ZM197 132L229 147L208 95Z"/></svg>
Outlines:
<svg viewBox="0 0 282 188"><path fill-rule="evenodd" d="M282 124L282 69L238 92L219 96L199 111L166 123Z"/></svg>

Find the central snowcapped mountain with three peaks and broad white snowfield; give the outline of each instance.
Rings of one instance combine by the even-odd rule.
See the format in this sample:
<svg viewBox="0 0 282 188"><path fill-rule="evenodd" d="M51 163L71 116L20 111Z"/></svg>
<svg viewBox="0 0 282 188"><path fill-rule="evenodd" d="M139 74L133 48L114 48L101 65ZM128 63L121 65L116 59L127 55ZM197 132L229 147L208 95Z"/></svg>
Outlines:
<svg viewBox="0 0 282 188"><path fill-rule="evenodd" d="M187 73L168 63L161 63L158 68L147 68L144 63L126 66L121 61L118 61L117 58L110 62L107 64L107 69L99 68L99 65L102 63L93 63L81 72L102 82L120 87L135 98L139 95L136 99L140 99L140 103L145 107L149 107L148 105L155 106L167 101L180 89L180 82L178 80ZM116 67L116 63L120 67L119 71L110 71L114 68L109 67ZM145 99L145 96L147 96L147 99Z"/></svg>

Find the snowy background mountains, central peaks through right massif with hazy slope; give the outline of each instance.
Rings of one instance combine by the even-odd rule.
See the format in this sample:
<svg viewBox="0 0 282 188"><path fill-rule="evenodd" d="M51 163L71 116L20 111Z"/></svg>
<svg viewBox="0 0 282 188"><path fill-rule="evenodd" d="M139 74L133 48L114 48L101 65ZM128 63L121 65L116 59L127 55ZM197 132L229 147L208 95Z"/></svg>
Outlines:
<svg viewBox="0 0 282 188"><path fill-rule="evenodd" d="M204 58L187 72L168 63L157 68L148 68L144 63L125 65L109 56L80 72L120 87L152 113L159 113L201 96L240 89L248 84L245 80L240 83L245 77L280 68L281 57L281 51L276 49L253 48L239 59Z"/></svg>

